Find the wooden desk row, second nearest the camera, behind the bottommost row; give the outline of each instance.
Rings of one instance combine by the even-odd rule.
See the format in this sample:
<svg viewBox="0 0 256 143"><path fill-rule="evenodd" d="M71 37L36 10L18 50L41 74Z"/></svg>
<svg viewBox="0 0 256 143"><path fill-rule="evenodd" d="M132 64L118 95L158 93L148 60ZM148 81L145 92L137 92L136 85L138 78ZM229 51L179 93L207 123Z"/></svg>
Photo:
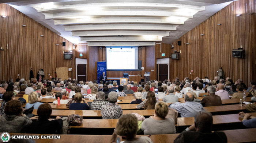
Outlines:
<svg viewBox="0 0 256 143"><path fill-rule="evenodd" d="M256 116L256 112L253 112L251 114L252 116ZM242 121L239 119L239 117L241 116L239 116L238 114L212 116L214 125L240 123ZM71 128L116 128L117 122L118 119L83 119L80 126L72 126ZM191 126L192 124L194 124L194 122L194 117L178 118L178 126Z"/></svg>

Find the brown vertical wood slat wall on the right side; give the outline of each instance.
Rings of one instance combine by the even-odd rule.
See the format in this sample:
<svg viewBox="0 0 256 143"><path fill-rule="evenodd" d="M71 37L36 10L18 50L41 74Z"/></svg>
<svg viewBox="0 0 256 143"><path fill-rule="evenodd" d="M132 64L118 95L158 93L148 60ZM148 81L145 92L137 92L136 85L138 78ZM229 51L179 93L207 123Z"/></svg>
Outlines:
<svg viewBox="0 0 256 143"><path fill-rule="evenodd" d="M219 23L222 25L217 25ZM214 79L222 67L225 77L234 81L244 79L249 86L250 80L256 80L255 25L255 0L239 0L227 5L173 43L174 49L170 52L181 50L181 54L180 60L170 59L170 79L179 77L182 80L185 76ZM177 41L181 41L181 46ZM245 58L232 57L232 49L241 45L245 49Z"/></svg>

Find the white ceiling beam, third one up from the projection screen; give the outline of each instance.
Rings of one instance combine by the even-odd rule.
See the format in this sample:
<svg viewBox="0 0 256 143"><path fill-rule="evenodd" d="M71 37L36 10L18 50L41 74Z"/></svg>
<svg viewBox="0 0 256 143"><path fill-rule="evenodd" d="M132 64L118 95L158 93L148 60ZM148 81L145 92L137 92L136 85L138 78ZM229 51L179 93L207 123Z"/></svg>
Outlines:
<svg viewBox="0 0 256 143"><path fill-rule="evenodd" d="M143 31L143 30L106 30L106 31L72 31L72 36L140 36L159 35L169 36L170 31Z"/></svg>

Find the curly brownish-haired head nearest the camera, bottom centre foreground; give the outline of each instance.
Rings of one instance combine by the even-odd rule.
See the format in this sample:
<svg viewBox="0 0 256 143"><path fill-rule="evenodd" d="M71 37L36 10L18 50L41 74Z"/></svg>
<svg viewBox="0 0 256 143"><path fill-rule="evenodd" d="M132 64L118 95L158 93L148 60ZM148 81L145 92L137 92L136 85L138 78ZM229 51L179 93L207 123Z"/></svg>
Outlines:
<svg viewBox="0 0 256 143"><path fill-rule="evenodd" d="M116 124L115 133L125 136L127 140L135 138L138 130L138 119L133 114L124 114L120 116Z"/></svg>

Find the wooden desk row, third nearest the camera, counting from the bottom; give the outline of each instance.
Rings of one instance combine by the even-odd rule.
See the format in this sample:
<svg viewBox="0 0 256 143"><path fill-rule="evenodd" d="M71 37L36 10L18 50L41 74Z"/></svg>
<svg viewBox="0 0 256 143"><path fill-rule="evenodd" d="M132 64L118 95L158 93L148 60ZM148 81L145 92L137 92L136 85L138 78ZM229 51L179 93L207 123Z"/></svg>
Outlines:
<svg viewBox="0 0 256 143"><path fill-rule="evenodd" d="M133 104L128 104L128 105L135 106ZM131 108L131 107L124 107L124 108ZM211 107L204 107L204 110L211 113L232 112L232 111L240 112L245 110L245 106L239 106L238 104L225 105L225 106L211 106ZM151 116L154 112L155 110L123 110L123 114L138 113L143 116ZM37 115L37 110L34 109L33 114ZM78 114L83 117L101 117L100 110L98 111L96 110L52 110L52 116L68 116L71 114Z"/></svg>

